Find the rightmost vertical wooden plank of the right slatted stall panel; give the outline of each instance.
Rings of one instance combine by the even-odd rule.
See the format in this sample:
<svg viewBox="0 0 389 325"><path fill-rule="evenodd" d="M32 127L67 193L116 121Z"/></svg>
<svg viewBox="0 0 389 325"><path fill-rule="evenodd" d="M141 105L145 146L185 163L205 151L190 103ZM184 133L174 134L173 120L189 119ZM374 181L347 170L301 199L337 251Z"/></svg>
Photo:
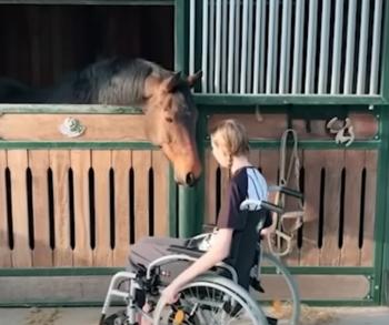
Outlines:
<svg viewBox="0 0 389 325"><path fill-rule="evenodd" d="M378 151L372 151L372 150L366 151L363 245L360 250L361 266L373 266L373 261L375 261L377 161L378 161Z"/></svg>

